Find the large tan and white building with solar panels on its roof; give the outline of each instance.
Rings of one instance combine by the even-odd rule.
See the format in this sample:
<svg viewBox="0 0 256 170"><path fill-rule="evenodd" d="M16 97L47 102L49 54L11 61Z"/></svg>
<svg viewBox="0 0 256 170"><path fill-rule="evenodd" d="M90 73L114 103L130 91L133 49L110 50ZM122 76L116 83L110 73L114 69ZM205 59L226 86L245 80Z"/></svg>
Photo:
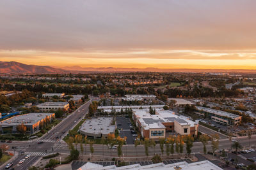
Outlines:
<svg viewBox="0 0 256 170"><path fill-rule="evenodd" d="M156 110L156 115L150 115L146 110L134 110L132 117L144 138L166 138L173 133L197 136L198 133L198 122L169 110Z"/></svg>

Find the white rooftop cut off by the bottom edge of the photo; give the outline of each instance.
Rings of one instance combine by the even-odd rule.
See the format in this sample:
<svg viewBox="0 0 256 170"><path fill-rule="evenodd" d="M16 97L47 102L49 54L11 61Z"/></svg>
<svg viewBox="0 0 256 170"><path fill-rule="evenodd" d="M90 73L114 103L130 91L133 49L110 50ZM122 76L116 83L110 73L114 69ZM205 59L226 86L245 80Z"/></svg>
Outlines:
<svg viewBox="0 0 256 170"><path fill-rule="evenodd" d="M178 162L174 164L151 164L147 166L141 166L140 164L133 164L130 166L121 166L116 167L113 166L102 166L99 164L93 164L91 162L87 162L83 166L81 166L77 170L223 170L222 168L212 164L212 162L208 160L200 161L200 162Z"/></svg>

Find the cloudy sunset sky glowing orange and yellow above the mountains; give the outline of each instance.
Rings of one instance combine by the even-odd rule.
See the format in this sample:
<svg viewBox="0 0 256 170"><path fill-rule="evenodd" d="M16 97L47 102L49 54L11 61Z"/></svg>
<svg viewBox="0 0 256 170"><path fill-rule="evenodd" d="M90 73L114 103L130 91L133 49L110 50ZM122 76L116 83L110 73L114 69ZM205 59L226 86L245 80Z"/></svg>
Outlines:
<svg viewBox="0 0 256 170"><path fill-rule="evenodd" d="M256 69L255 0L0 1L0 60Z"/></svg>

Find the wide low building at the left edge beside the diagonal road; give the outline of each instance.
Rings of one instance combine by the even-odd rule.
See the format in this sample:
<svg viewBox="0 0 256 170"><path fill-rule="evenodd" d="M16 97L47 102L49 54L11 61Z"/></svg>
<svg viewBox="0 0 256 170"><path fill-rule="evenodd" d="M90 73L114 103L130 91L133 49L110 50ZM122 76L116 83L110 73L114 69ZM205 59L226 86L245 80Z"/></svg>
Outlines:
<svg viewBox="0 0 256 170"><path fill-rule="evenodd" d="M55 113L28 113L8 118L0 122L0 132L2 134L20 133L17 125L26 126L26 134L35 134L40 131L40 123L52 121Z"/></svg>

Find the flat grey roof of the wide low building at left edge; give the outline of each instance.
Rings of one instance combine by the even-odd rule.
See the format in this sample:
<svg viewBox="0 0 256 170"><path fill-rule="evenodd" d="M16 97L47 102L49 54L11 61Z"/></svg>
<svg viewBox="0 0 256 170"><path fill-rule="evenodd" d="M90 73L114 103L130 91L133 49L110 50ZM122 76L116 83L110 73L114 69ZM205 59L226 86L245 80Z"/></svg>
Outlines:
<svg viewBox="0 0 256 170"><path fill-rule="evenodd" d="M0 122L0 125L33 125L45 117L49 117L54 113L28 113L24 115L17 115Z"/></svg>

